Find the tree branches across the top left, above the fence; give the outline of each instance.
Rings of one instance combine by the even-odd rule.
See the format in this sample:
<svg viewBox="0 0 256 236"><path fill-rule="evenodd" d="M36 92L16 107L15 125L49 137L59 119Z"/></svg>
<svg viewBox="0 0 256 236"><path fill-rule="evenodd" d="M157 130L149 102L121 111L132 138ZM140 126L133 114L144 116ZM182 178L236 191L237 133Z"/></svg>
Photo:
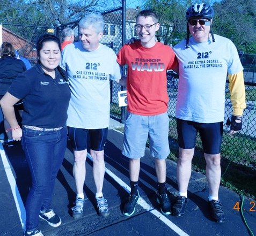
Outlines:
<svg viewBox="0 0 256 236"><path fill-rule="evenodd" d="M55 27L91 12L109 9L116 0L5 0L0 2L2 23Z"/></svg>

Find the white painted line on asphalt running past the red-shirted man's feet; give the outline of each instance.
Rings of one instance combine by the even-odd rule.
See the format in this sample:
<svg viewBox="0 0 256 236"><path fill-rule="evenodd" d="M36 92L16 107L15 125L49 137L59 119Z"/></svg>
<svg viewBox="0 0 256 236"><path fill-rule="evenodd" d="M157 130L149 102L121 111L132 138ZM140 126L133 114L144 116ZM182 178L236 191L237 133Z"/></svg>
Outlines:
<svg viewBox="0 0 256 236"><path fill-rule="evenodd" d="M104 154L107 156L106 154ZM89 153L87 153L87 156L91 159L92 157ZM111 158L107 156L108 158ZM105 168L105 172L114 179L122 188L124 188L128 193L130 193L130 187L123 182L119 177L117 177L113 172L109 171L107 168ZM175 233L179 234L180 236L189 236L187 233L182 231L177 225L171 222L171 220L167 219L162 213L160 213L158 210L153 209L142 197L138 199L137 204L141 205L145 210L149 211L153 215L155 215L158 219L162 220L163 223L165 223L167 226L169 226Z"/></svg>

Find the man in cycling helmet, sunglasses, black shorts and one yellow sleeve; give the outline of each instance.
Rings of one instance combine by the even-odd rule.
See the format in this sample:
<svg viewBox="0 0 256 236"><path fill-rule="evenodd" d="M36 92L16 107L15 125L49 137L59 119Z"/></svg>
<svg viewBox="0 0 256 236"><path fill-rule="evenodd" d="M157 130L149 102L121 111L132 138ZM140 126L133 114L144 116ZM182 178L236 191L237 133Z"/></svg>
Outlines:
<svg viewBox="0 0 256 236"><path fill-rule="evenodd" d="M172 205L172 215L182 217L187 204L196 134L202 140L209 185L209 210L217 223L225 214L218 199L221 181L221 142L223 133L225 83L228 75L233 115L228 119L229 134L242 129L246 108L243 66L235 45L225 37L213 34L214 10L207 3L187 9L187 39L175 45L179 61L179 85L176 107L179 139L177 181L179 195ZM189 38L189 33L192 37Z"/></svg>

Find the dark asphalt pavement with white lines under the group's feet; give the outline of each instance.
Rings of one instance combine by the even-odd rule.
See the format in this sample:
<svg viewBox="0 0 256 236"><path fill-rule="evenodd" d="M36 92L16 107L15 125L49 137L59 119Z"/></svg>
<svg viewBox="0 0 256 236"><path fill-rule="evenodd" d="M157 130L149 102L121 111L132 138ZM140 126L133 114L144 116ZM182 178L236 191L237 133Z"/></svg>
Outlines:
<svg viewBox="0 0 256 236"><path fill-rule="evenodd" d="M130 190L128 159L121 154L123 134L114 130L115 127L122 126L118 121L111 120L105 146L106 173L103 193L111 214L108 217L97 214L94 200L96 188L89 155L86 161L84 215L79 219L71 217L76 187L72 176L74 157L68 143L58 172L52 203L52 208L61 217L62 224L54 228L40 219L40 229L46 236L256 235L255 200L244 199L242 205L240 195L221 186L219 197L226 221L224 224L217 224L211 219L207 208L209 191L206 177L194 171L189 183L184 217L162 215L156 201L155 165L148 148L145 149L145 157L141 159L140 200L136 204L134 215L123 215L121 209ZM0 154L0 236L22 236L26 218L24 203L31 183L30 172L20 142L11 148L0 143ZM176 163L167 160L166 183L171 200L178 193L176 180ZM238 211L237 207L243 210Z"/></svg>

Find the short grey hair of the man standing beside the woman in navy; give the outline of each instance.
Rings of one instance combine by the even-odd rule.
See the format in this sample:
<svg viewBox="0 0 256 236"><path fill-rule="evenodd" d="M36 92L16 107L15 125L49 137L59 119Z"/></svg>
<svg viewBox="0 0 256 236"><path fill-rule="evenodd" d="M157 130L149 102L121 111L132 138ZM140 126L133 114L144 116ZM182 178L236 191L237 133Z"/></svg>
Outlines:
<svg viewBox="0 0 256 236"><path fill-rule="evenodd" d="M101 14L89 14L79 21L79 27L87 29L92 26L96 33L104 31L104 19Z"/></svg>

